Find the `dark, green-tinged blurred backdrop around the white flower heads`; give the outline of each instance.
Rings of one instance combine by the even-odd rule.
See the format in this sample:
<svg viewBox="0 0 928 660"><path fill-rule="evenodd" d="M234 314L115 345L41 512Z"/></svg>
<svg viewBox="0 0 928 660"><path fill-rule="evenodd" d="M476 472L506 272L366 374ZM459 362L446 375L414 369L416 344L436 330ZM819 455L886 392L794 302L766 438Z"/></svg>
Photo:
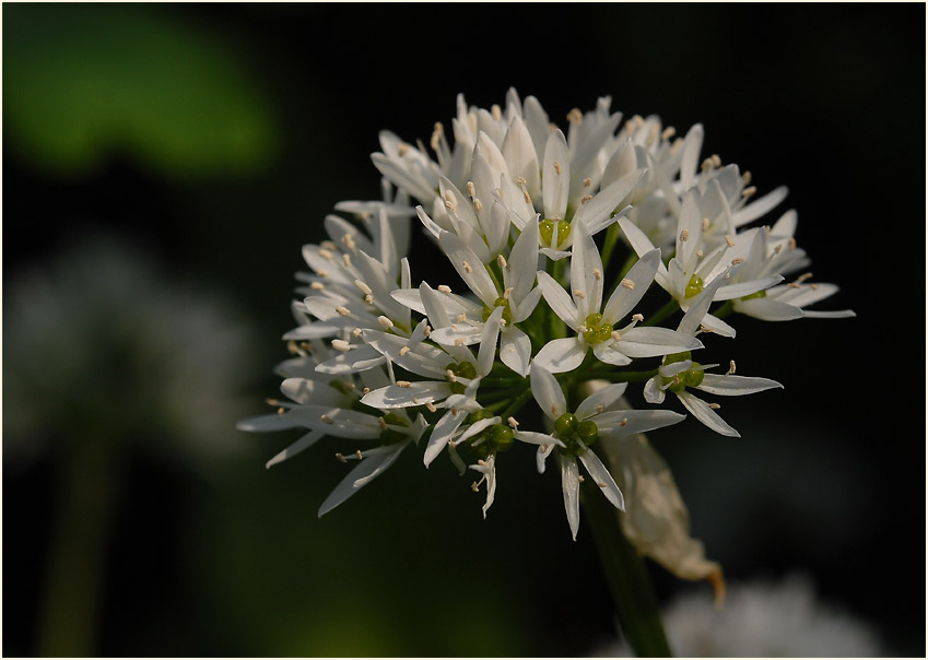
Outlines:
<svg viewBox="0 0 928 660"><path fill-rule="evenodd" d="M336 202L379 196L377 132L427 142L459 92L489 107L510 85L561 125L601 95L681 134L702 122L704 155L762 193L789 186L780 211L798 210L815 279L842 287L822 307L857 318L735 319L719 362L786 389L725 402L740 439L693 421L651 439L730 581L806 571L888 655L925 653L923 4L5 4L2 19L4 656L56 634L39 612L85 428L40 384L11 391L13 369L56 365L10 360L25 354L10 300L99 236L168 291L213 292L251 343L220 358L242 370L215 396L240 410L209 391L202 405L239 450L152 450L146 417L117 434L98 615L77 655L577 656L614 637L588 530L571 541L556 475L528 458L501 469L485 521L469 481L412 452L318 520L343 474L332 445L266 471L293 438L234 429L277 392L301 246ZM419 232L415 246L432 249ZM30 406L38 421L11 428ZM662 601L708 589L651 568Z"/></svg>

